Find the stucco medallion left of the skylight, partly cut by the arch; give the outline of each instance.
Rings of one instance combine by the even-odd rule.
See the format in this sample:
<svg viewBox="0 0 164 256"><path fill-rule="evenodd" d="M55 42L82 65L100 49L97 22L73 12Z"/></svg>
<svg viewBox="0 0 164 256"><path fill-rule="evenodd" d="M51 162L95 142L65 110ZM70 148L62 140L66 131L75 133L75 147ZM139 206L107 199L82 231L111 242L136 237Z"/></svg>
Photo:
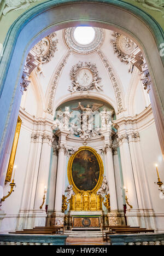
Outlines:
<svg viewBox="0 0 164 256"><path fill-rule="evenodd" d="M38 61L42 58L42 61L49 62L57 51L57 43L56 33L51 33L49 36L40 40L39 43L32 48L32 51L37 55Z"/></svg>

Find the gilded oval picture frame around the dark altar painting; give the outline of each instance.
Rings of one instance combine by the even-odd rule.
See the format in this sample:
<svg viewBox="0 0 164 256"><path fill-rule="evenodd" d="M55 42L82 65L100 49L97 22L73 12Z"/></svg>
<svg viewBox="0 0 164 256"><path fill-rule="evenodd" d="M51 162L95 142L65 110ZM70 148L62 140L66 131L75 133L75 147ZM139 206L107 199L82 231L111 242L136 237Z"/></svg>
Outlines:
<svg viewBox="0 0 164 256"><path fill-rule="evenodd" d="M97 181L97 184L95 185L95 187L92 190L80 190L77 185L75 185L74 179L73 179L73 175L72 175L72 165L74 162L74 159L77 157L77 155L83 151L83 150L88 150L89 152L91 152L97 159L98 165L99 165L99 178ZM103 167L103 161L101 159L101 156L97 154L96 150L91 148L91 147L80 147L79 150L74 153L71 158L69 158L68 161L68 168L67 168L67 175L68 175L68 182L69 184L72 184L73 186L73 190L76 194L83 194L83 193L96 193L97 190L101 187L102 181L103 181L103 173L104 173L104 167Z"/></svg>

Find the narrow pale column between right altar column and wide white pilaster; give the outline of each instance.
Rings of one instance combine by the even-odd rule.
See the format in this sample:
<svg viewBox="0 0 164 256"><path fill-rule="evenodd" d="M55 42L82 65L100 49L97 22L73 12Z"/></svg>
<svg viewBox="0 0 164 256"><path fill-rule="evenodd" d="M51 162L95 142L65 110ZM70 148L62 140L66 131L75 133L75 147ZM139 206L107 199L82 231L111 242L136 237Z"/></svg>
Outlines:
<svg viewBox="0 0 164 256"><path fill-rule="evenodd" d="M123 210L123 199L122 199L122 183L120 177L120 165L117 147L113 147L113 163L114 163L114 174L115 174L115 184L116 184L116 195L118 201L118 210Z"/></svg>

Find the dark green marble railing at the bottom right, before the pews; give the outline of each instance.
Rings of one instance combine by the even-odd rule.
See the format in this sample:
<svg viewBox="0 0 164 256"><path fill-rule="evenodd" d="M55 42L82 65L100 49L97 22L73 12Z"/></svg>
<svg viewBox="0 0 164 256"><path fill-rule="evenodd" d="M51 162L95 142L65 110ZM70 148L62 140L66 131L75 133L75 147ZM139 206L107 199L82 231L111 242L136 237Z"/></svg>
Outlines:
<svg viewBox="0 0 164 256"><path fill-rule="evenodd" d="M164 245L164 233L108 235L111 245Z"/></svg>

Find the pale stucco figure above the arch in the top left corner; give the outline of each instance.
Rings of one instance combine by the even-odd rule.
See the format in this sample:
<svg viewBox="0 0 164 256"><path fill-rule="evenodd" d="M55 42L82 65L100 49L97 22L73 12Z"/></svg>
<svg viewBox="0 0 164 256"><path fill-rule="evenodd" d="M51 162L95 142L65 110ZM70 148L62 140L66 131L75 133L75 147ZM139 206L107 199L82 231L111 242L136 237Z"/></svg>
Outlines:
<svg viewBox="0 0 164 256"><path fill-rule="evenodd" d="M26 9L33 2L37 2L37 0L5 0L3 15L5 16L10 10Z"/></svg>

